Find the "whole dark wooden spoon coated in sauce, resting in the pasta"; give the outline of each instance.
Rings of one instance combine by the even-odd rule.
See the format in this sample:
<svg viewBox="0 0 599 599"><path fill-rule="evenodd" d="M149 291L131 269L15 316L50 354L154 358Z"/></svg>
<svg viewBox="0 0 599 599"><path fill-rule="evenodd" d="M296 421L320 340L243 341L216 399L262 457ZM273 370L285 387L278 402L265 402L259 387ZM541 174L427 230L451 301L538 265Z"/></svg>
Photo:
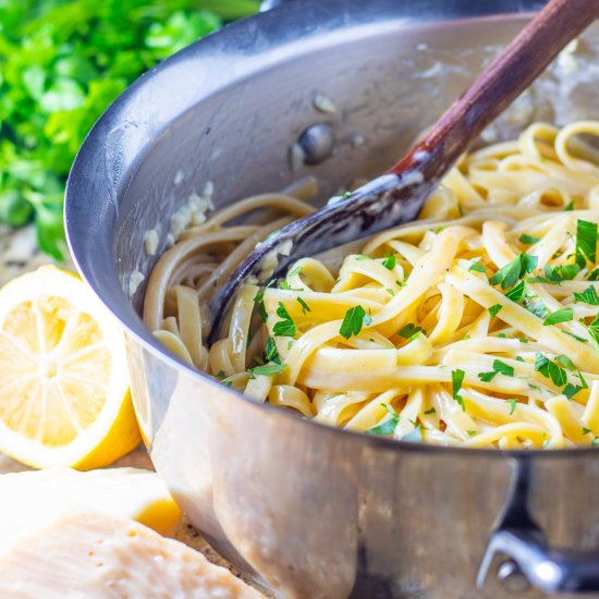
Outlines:
<svg viewBox="0 0 599 599"><path fill-rule="evenodd" d="M425 199L482 129L597 16L599 0L551 0L453 102L428 135L386 174L259 244L211 301L209 342L218 338L231 300L249 277L260 282L270 280L298 258L416 219ZM267 270L265 264L272 262L274 256L276 269Z"/></svg>

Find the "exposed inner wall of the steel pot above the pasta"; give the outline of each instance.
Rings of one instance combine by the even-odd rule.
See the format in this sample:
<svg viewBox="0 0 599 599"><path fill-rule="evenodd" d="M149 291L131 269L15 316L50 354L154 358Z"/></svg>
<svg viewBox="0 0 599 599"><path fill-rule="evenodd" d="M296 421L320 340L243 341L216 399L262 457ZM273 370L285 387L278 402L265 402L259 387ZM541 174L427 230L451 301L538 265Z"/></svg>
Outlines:
<svg viewBox="0 0 599 599"><path fill-rule="evenodd" d="M239 81L234 64L225 61L231 83L171 123L139 161L120 201L113 247L123 288L133 270L147 274L156 261L144 254L144 232L158 231L159 255L168 243L170 216L207 182L215 186L218 208L282 190L305 175L317 176L318 200L323 201L355 179L381 173L522 24L521 17L442 26L398 20L384 27L354 27L330 34L309 51L281 52L274 64ZM595 37L596 30L580 44L577 56L586 58L553 65L487 138L509 137L536 119L564 123L591 117L588 107L599 77ZM196 64L198 72L188 76L205 77L203 69L210 64ZM316 110L316 93L337 111ZM320 122L334 131L332 156L292 169L291 146L307 126ZM133 296L137 308L143 293L142 284Z"/></svg>

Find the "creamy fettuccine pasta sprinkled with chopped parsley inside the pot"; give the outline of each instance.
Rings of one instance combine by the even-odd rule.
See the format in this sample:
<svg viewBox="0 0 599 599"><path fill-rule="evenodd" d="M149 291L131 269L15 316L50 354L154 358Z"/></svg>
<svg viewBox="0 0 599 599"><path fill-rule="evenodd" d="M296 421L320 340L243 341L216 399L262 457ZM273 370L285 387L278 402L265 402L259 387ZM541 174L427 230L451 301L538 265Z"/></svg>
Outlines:
<svg viewBox="0 0 599 599"><path fill-rule="evenodd" d="M470 448L598 444L598 135L596 121L535 123L465 155L417 221L245 284L207 349L208 300L313 210L314 190L236 203L161 256L145 322L222 383L331 426Z"/></svg>

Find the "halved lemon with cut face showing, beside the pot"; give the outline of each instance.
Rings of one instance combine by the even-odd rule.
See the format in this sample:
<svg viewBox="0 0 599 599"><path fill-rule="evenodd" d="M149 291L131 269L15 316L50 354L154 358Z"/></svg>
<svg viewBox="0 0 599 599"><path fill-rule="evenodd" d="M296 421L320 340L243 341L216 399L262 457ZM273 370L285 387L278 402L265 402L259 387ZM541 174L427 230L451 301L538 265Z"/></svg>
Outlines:
<svg viewBox="0 0 599 599"><path fill-rule="evenodd" d="M52 266L0 290L0 451L29 466L110 464L139 442L123 332Z"/></svg>

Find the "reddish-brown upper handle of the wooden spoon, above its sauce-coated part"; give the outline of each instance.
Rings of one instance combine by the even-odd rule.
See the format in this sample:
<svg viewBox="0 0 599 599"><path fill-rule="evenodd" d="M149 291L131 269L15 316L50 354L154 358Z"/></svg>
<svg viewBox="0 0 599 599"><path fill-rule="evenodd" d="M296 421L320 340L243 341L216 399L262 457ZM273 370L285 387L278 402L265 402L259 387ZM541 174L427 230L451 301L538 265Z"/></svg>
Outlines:
<svg viewBox="0 0 599 599"><path fill-rule="evenodd" d="M438 179L472 140L599 16L599 0L551 0L388 172Z"/></svg>

